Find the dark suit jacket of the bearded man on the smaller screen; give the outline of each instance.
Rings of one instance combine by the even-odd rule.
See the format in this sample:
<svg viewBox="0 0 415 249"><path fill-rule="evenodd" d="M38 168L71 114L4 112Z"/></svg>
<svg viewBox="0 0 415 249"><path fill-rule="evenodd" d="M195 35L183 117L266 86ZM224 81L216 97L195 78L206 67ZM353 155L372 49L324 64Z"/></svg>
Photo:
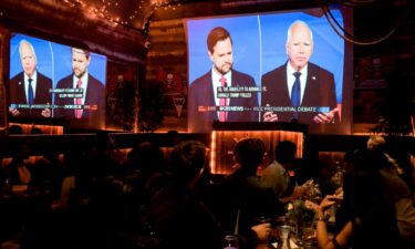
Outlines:
<svg viewBox="0 0 415 249"><path fill-rule="evenodd" d="M73 89L73 74L60 80L56 84L56 89ZM85 105L94 106L95 108L84 108L82 112L82 120L87 122L89 126L101 126L105 118L105 87L104 85L89 74L87 87L85 95ZM63 108L64 105L74 105L74 98L72 97L60 97L55 94L54 104L58 108L54 110L54 117L64 120L74 120L75 110Z"/></svg>

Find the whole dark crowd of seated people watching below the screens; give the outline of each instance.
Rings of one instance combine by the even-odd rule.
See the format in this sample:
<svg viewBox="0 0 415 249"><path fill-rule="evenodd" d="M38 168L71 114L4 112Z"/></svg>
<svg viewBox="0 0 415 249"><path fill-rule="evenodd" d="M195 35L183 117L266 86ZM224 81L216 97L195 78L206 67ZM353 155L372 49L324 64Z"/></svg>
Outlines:
<svg viewBox="0 0 415 249"><path fill-rule="evenodd" d="M100 135L28 165L27 146L17 144L20 153L0 172L1 248L215 249L235 235L240 249L255 249L278 241L276 220L291 201L307 199L311 181L298 178L304 165L292 142L267 152L262 139L243 138L234 148L235 172L215 180L205 144L176 139L170 148L147 141L125 156ZM270 155L274 162L258 175ZM319 248L413 248L411 166L376 136L344 160L342 184L305 201L315 212ZM27 189L17 194L13 186ZM328 228L333 205L336 224Z"/></svg>

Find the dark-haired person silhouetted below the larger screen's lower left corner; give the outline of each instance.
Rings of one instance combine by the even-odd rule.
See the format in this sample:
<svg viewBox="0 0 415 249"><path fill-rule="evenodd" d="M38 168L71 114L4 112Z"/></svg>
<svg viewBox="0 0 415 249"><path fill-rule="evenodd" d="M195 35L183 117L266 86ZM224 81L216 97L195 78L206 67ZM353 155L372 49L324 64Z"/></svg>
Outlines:
<svg viewBox="0 0 415 249"><path fill-rule="evenodd" d="M205 145L186 141L174 147L169 173L151 179L152 198L144 221L158 239L157 248L222 248L220 224L194 193L206 162Z"/></svg>

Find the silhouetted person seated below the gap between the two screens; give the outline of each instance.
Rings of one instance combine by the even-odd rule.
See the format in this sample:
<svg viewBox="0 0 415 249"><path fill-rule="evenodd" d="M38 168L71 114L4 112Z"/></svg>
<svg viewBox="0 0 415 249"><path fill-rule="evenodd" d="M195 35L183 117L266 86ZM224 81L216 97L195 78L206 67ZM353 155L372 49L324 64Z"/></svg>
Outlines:
<svg viewBox="0 0 415 249"><path fill-rule="evenodd" d="M118 247L134 240L143 230L142 215L149 203L147 181L167 169L163 151L151 142L134 146L127 155L123 174L108 174L97 179L90 208L102 247ZM116 245L112 243L115 241Z"/></svg>

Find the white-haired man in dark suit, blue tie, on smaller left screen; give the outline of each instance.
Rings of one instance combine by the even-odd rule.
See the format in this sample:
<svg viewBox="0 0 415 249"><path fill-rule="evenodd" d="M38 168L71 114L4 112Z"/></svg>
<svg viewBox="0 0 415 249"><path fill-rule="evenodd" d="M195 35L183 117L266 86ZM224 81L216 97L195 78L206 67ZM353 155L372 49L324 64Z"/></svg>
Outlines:
<svg viewBox="0 0 415 249"><path fill-rule="evenodd" d="M23 71L10 80L9 112L13 117L50 117L52 81L37 71L37 54L29 41L20 41L19 53Z"/></svg>

